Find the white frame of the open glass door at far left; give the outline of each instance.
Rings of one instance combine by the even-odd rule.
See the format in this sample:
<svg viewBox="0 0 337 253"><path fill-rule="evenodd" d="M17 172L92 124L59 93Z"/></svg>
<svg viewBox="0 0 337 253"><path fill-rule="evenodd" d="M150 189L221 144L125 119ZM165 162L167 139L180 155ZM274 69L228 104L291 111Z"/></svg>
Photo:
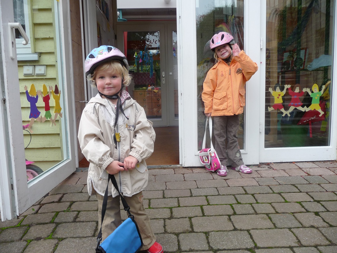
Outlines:
<svg viewBox="0 0 337 253"><path fill-rule="evenodd" d="M1 100L1 118L0 131L3 142L0 142L0 194L1 194L1 219L13 219L22 214L37 200L56 187L62 180L70 175L75 169L75 128L71 119L74 118L74 91L71 79L71 37L70 37L70 7L68 2L60 1L59 15L60 27L63 36L60 39L62 43L62 72L64 73L64 83L66 91L64 92L64 108L67 115L67 128L64 136L68 140L69 159L63 161L60 165L55 166L41 177L32 180L27 184L25 151L23 143L23 131L21 121L21 105L18 63L16 55L14 59L9 55L9 35L8 22L13 22L13 3L12 1L0 1L0 34L1 34L1 55L3 76L0 75L1 82L1 99L4 97L5 103ZM59 70L61 71L61 69ZM8 85L7 85L8 84ZM10 85L9 85L10 84Z"/></svg>

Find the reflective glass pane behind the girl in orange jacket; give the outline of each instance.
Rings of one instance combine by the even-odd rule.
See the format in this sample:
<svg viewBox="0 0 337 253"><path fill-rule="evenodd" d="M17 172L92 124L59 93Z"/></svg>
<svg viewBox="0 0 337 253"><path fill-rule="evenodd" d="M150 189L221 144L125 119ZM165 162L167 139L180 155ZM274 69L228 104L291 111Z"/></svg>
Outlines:
<svg viewBox="0 0 337 253"><path fill-rule="evenodd" d="M213 52L209 42L219 32L231 33L241 49L244 49L244 1L196 0L196 48L197 48L197 120L198 150L202 147L206 116L201 99L203 82L208 70L214 65ZM238 141L244 148L244 113L240 114ZM209 143L209 141L207 141Z"/></svg>

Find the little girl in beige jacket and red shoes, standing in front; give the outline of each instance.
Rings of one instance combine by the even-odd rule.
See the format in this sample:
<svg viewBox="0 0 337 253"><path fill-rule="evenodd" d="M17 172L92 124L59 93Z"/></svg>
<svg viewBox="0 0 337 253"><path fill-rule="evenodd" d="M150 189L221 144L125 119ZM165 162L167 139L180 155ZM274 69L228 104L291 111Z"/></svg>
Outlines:
<svg viewBox="0 0 337 253"><path fill-rule="evenodd" d="M111 174L138 224L143 240L140 250L163 253L145 212L142 193L149 177L145 159L153 152L156 134L143 107L123 90L131 81L128 61L117 48L100 46L87 56L85 73L98 93L83 110L78 138L82 153L90 162L88 193L96 195L98 200L99 225L103 196ZM111 190L109 187L101 239L108 237L121 223L120 197L112 186Z"/></svg>

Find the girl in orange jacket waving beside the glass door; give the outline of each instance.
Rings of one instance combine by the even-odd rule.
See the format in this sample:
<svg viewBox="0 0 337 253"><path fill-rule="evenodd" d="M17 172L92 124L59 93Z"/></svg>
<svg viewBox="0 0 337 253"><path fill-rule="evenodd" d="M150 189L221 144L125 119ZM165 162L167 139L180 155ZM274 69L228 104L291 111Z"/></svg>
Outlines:
<svg viewBox="0 0 337 253"><path fill-rule="evenodd" d="M245 106L245 84L257 71L257 64L240 50L227 32L215 34L210 49L214 52L215 64L204 80L202 99L205 115L214 119L215 151L221 162L217 174L227 175L227 156L233 170L251 173L243 163L237 133L239 115Z"/></svg>

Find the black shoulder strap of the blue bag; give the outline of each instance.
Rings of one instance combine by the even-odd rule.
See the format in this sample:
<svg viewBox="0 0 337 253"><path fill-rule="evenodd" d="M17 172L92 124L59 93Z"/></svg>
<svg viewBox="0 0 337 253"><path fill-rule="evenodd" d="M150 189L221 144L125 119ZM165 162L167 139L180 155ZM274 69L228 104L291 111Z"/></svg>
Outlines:
<svg viewBox="0 0 337 253"><path fill-rule="evenodd" d="M108 184L106 185L105 193L104 193L104 198L103 198L103 203L102 203L102 213L101 213L101 228L99 229L99 233L97 236L97 247L96 247L96 253L101 253L101 250L99 249L99 244L102 241L102 224L105 216L105 211L106 211L106 206L108 205L108 188L109 188L109 181L112 182L113 186L116 188L116 190L119 193L119 196L121 197L122 204L124 206L124 210L128 212L128 217L133 217L133 215L130 213L130 207L126 203L126 200L124 199L123 195L120 193L117 185L117 181L114 175L109 174L108 178Z"/></svg>

